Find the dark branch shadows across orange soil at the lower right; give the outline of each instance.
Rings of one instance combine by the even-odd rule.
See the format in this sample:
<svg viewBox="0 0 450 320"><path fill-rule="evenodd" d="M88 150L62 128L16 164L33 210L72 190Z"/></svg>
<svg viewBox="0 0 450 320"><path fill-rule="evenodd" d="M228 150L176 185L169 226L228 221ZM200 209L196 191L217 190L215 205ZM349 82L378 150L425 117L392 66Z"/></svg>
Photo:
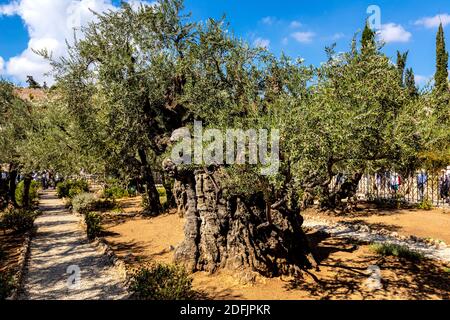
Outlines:
<svg viewBox="0 0 450 320"><path fill-rule="evenodd" d="M354 252L358 246L346 239L312 235L318 241L316 255L320 271L304 271L289 281L287 290L302 290L316 299L449 299L450 273L441 264L424 259L417 263L397 257L380 258L375 254ZM352 255L348 255L352 253ZM379 290L367 286L373 274L369 267L381 271Z"/></svg>

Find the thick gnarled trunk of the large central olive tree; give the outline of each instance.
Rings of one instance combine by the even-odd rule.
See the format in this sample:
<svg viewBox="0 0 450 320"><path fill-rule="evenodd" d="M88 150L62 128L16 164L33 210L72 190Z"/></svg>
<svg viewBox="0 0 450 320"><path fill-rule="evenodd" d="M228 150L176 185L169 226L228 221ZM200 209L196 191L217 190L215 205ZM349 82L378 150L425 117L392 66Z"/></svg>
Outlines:
<svg viewBox="0 0 450 320"><path fill-rule="evenodd" d="M225 198L218 171L176 172L175 177L174 195L186 218L185 240L175 260L188 270L230 269L270 277L316 266L299 213L278 205L268 221L264 197Z"/></svg>

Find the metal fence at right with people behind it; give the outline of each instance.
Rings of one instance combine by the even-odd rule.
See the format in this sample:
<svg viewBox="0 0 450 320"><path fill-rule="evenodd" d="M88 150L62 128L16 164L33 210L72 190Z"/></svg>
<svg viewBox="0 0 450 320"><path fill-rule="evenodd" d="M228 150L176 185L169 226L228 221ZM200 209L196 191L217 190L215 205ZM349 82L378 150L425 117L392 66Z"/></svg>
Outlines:
<svg viewBox="0 0 450 320"><path fill-rule="evenodd" d="M411 204L424 200L436 207L450 207L450 172L420 172L404 177L395 172L365 174L358 185L360 200L402 199ZM345 175L335 177L331 188L336 190L346 180Z"/></svg>

